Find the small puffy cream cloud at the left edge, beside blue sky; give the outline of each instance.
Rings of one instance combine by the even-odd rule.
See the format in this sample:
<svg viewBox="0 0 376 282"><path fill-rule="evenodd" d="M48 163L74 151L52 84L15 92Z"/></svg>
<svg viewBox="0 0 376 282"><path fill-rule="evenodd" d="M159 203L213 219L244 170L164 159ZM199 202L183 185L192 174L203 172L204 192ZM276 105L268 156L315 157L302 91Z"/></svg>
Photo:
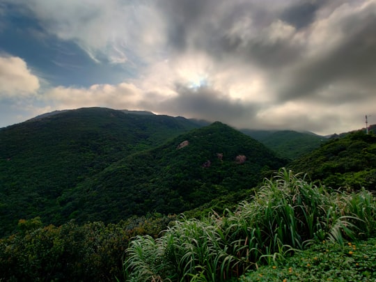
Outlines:
<svg viewBox="0 0 376 282"><path fill-rule="evenodd" d="M40 87L39 79L22 58L0 56L0 97L30 95Z"/></svg>

